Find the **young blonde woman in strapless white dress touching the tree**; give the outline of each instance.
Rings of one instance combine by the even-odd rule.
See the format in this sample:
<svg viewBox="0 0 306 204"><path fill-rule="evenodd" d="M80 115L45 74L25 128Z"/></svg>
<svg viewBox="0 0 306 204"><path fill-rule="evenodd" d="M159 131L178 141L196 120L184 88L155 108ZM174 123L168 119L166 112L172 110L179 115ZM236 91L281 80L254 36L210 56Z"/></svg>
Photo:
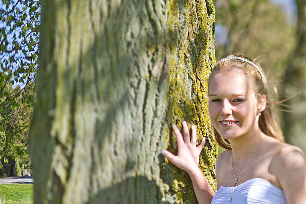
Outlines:
<svg viewBox="0 0 306 204"><path fill-rule="evenodd" d="M284 142L268 105L267 80L251 59L230 55L215 65L208 81L209 114L216 141L228 149L216 160L215 193L198 167L205 138L196 127L173 125L178 154L163 155L188 172L198 203L306 203L306 158Z"/></svg>

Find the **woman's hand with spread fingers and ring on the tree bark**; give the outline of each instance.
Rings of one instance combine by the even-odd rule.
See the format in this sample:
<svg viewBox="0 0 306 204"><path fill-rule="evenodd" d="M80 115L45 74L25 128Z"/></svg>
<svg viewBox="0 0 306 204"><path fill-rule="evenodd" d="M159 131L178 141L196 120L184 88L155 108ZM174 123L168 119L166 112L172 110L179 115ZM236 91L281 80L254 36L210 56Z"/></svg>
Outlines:
<svg viewBox="0 0 306 204"><path fill-rule="evenodd" d="M189 174L192 170L198 168L199 164L199 155L204 148L205 145L205 137L203 138L200 145L196 146L196 127L195 125L191 126L191 141L189 135L189 128L187 122L184 121L182 123L183 126L183 135L181 135L178 127L176 125L172 125L173 131L176 136L177 143L177 155L172 154L168 150L163 150L162 154L166 157L171 163L176 165L182 170L187 171Z"/></svg>

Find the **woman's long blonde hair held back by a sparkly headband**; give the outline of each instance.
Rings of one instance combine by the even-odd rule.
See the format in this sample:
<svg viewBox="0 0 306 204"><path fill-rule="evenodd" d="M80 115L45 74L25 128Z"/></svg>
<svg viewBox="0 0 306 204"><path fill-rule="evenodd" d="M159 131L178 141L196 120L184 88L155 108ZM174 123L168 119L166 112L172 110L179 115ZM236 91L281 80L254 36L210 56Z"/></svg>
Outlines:
<svg viewBox="0 0 306 204"><path fill-rule="evenodd" d="M234 69L241 71L243 75L247 77L248 81L250 81L249 85L255 91L257 99L259 99L262 95L266 96L267 105L265 109L261 112L261 116L259 116L260 130L264 134L284 142L284 137L282 135L279 122L272 111L272 107L269 105L273 104L274 102L269 101L266 76L261 66L255 63L252 59L234 54L218 61L209 76L208 89L210 80L216 73L223 71L231 71ZM215 130L215 128L213 128L213 130L217 143L225 149L231 149L229 141L227 139L223 139L221 135Z"/></svg>

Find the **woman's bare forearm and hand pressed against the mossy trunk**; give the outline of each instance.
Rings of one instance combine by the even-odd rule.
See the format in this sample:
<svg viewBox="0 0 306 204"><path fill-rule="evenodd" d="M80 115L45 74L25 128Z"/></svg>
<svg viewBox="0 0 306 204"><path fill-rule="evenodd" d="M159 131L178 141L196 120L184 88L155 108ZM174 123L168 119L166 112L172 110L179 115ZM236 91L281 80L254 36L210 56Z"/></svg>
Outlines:
<svg viewBox="0 0 306 204"><path fill-rule="evenodd" d="M202 171L198 167L199 155L205 145L205 138L199 146L196 146L195 143L190 142L188 125L186 122L183 122L183 136L181 135L179 129L173 125L173 131L176 136L178 153L173 155L171 152L164 150L163 155L171 163L187 171L189 174L193 189L196 195L198 203L211 203L211 200L214 196L214 191L209 185L207 179L203 175ZM196 141L196 128L194 125L191 127L191 141Z"/></svg>

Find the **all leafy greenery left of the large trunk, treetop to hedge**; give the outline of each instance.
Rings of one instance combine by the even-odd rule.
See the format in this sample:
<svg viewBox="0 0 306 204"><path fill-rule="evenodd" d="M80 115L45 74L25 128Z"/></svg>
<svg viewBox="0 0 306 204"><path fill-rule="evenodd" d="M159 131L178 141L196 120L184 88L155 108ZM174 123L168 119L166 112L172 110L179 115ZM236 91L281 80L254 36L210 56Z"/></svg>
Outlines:
<svg viewBox="0 0 306 204"><path fill-rule="evenodd" d="M39 25L39 0L0 1L0 159L4 163L9 155L27 153Z"/></svg>

